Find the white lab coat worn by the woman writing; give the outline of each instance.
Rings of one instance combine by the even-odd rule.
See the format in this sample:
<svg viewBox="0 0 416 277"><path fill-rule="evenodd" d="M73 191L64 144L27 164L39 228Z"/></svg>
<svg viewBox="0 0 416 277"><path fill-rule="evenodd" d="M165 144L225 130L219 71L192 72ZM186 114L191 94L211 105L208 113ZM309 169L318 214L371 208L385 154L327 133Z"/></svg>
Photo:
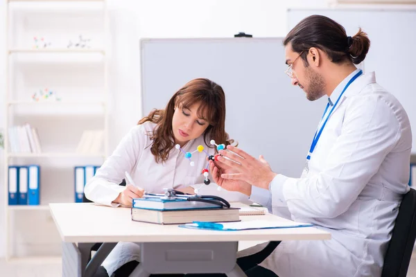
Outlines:
<svg viewBox="0 0 416 277"><path fill-rule="evenodd" d="M169 152L169 157L164 163L156 163L155 157L150 152L152 141L148 136L155 126L154 123L146 122L130 129L116 150L86 184L85 196L87 199L107 206L119 206L112 201L125 189L119 184L122 179L125 179L125 171L127 171L135 184L144 188L147 193L163 193L164 188L193 186L193 188L200 188L200 194L214 194L225 197L225 199L232 198L234 201L248 201L248 197L242 193L216 191L217 185L214 184L211 175L209 175L211 184L206 186L203 183L204 176L201 172L209 164L207 154L204 152L192 154L191 160L195 163L193 167L184 157L184 153L176 148ZM218 143L222 142L218 141ZM193 152L198 145L203 145L209 155L215 154L214 148L209 148L205 144L203 136L189 141L182 150ZM111 276L116 269L131 260L139 261L139 246L132 242L119 242L103 262L103 267Z"/></svg>

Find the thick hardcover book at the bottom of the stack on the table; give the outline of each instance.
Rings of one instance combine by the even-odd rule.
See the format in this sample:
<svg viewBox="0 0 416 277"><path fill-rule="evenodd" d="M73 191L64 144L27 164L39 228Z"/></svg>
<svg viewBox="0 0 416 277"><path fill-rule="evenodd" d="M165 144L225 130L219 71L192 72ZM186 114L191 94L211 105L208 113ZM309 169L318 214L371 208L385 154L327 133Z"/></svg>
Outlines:
<svg viewBox="0 0 416 277"><path fill-rule="evenodd" d="M239 208L196 208L186 210L157 211L132 208L132 220L156 224L185 224L200 222L236 222L240 220Z"/></svg>

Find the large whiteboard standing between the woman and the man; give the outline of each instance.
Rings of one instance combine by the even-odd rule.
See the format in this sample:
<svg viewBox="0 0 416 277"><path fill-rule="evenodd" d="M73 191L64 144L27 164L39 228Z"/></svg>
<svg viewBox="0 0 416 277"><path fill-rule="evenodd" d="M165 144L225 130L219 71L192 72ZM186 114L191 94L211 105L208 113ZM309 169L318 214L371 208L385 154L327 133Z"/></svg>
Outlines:
<svg viewBox="0 0 416 277"><path fill-rule="evenodd" d="M164 108L189 80L209 78L225 91L225 129L239 148L300 177L327 99L310 102L291 85L282 40L142 39L142 115Z"/></svg>

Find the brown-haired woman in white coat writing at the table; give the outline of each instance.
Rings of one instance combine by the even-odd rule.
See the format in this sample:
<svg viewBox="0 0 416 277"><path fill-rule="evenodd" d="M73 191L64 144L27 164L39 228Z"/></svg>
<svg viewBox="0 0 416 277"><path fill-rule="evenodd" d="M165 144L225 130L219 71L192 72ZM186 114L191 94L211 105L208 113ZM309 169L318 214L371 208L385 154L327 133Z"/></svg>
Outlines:
<svg viewBox="0 0 416 277"><path fill-rule="evenodd" d="M128 132L86 184L85 196L107 206L131 206L132 199L142 197L144 191L163 193L164 188L174 188L193 193L189 186L205 186L201 172L207 168L207 154L195 152L191 157L194 166L190 166L189 159L175 145L185 152L202 145L214 155L212 139L218 144L233 143L225 132L224 91L211 80L191 80L173 95L166 109L151 111ZM132 184L119 186L125 172L139 188ZM120 242L103 267L108 276L128 276L138 261L139 245Z"/></svg>

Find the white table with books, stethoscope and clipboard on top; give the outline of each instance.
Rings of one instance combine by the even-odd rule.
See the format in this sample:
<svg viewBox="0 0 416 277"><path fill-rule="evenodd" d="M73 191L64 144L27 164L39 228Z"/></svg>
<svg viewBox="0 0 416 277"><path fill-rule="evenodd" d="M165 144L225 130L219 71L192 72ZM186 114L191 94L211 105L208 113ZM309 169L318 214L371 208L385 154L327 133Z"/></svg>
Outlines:
<svg viewBox="0 0 416 277"><path fill-rule="evenodd" d="M314 227L246 231L208 231L134 222L130 208L92 203L50 204L62 238L62 276L89 277L117 242L139 242L141 262L130 276L166 273L225 273L245 276L236 265L239 241L329 240L331 234ZM285 221L275 215L241 216L241 220ZM91 262L90 248L105 242ZM78 245L77 245L78 244Z"/></svg>

